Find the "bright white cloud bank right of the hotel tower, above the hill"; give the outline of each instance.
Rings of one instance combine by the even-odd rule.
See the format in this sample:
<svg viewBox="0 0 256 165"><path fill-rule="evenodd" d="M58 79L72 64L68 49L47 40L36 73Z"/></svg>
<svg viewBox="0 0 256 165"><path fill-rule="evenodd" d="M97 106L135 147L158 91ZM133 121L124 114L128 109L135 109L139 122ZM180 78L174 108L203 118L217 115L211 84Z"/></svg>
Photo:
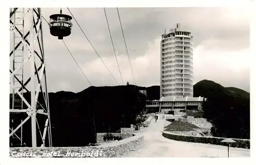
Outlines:
<svg viewBox="0 0 256 165"><path fill-rule="evenodd" d="M199 45L194 50L194 84L202 79L213 80L224 87L250 91L249 49L221 51Z"/></svg>

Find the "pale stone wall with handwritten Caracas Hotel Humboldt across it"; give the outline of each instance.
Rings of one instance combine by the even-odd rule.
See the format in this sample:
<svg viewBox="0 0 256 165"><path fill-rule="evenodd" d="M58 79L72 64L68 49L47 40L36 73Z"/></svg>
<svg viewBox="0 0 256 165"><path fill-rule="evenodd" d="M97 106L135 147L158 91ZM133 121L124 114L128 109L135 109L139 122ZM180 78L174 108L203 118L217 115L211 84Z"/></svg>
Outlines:
<svg viewBox="0 0 256 165"><path fill-rule="evenodd" d="M143 140L143 135L135 135L93 147L10 148L10 157L119 157L143 145Z"/></svg>

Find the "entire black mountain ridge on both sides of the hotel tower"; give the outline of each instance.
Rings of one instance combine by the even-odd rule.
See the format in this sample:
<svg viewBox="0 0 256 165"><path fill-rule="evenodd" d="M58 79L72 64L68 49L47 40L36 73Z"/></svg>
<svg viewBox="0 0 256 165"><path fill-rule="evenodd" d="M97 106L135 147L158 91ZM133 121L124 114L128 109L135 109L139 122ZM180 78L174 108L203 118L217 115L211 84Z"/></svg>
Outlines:
<svg viewBox="0 0 256 165"><path fill-rule="evenodd" d="M146 90L147 97L139 93L139 90ZM204 118L214 124L211 130L214 135L250 139L250 99L246 92L234 87L226 89L214 81L202 80L194 85L194 96L207 97L203 103ZM30 94L24 93L24 97L29 100ZM11 98L12 94L10 108ZM130 124L136 123L136 116L143 112L146 99L159 98L160 86L92 86L77 93L51 92L49 104L53 145L76 147L95 143L96 132L117 132L120 127L130 127ZM38 101L46 106L42 103L42 93L39 93ZM26 106L24 104L24 108ZM16 119L20 121L22 117L17 116ZM44 123L45 119L40 119L39 115L37 121ZM27 124L24 130L30 130L30 122ZM25 137L29 139L31 135L25 134L24 142ZM76 141L72 141L74 138ZM28 146L29 143L30 140L27 140Z"/></svg>

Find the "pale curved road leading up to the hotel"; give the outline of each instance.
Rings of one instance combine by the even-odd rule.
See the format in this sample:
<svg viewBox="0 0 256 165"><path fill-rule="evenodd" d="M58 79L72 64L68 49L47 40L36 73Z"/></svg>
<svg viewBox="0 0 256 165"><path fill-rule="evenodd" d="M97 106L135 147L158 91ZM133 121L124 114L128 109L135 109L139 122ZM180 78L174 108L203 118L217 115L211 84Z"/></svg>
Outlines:
<svg viewBox="0 0 256 165"><path fill-rule="evenodd" d="M144 146L124 157L227 157L227 147L180 142L162 136L166 121L151 120L150 125L140 133L144 134ZM250 149L229 148L229 157L250 157Z"/></svg>

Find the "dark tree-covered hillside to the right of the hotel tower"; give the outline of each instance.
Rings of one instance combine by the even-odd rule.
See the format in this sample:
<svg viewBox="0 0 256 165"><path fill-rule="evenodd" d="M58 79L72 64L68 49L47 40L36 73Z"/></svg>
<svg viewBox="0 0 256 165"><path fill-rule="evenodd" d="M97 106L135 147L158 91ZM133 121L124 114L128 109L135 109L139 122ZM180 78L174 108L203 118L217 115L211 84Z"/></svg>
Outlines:
<svg viewBox="0 0 256 165"><path fill-rule="evenodd" d="M237 88L224 88L214 81L202 80L194 85L194 96L203 96L204 116L214 126L218 137L250 139L249 93Z"/></svg>

